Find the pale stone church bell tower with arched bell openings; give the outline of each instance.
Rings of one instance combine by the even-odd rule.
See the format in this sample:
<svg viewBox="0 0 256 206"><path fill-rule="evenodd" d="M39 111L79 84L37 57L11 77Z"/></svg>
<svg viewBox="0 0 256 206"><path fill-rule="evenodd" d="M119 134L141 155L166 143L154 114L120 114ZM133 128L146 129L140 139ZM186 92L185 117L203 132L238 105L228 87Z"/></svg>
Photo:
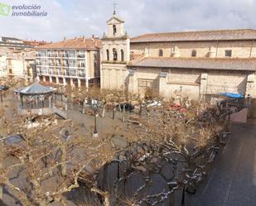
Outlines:
<svg viewBox="0 0 256 206"><path fill-rule="evenodd" d="M124 22L113 16L107 21L108 32L102 37L101 88L122 90L127 87L127 63L130 54L130 40L124 31Z"/></svg>

